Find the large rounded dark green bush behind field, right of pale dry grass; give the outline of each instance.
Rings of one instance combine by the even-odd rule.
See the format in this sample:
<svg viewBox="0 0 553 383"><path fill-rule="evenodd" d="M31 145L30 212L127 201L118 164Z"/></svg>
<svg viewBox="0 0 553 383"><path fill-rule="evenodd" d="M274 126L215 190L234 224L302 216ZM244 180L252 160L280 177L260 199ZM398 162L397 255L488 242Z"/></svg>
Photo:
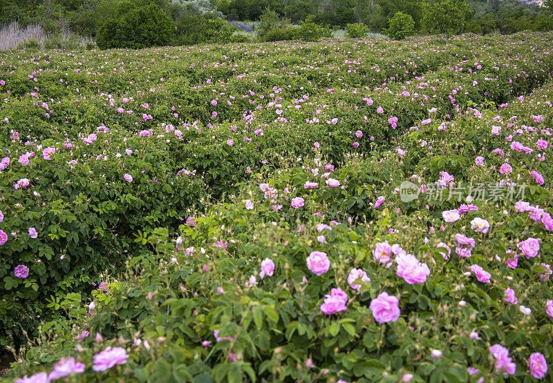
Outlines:
<svg viewBox="0 0 553 383"><path fill-rule="evenodd" d="M135 8L122 3L119 13L118 19L109 19L98 30L99 48L148 48L165 46L171 41L171 20L157 6Z"/></svg>

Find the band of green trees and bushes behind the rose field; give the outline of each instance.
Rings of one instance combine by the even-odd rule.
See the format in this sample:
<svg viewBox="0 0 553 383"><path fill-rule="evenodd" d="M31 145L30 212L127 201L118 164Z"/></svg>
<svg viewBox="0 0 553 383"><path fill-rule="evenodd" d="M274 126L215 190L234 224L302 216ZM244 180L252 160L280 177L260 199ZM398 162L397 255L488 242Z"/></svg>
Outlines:
<svg viewBox="0 0 553 383"><path fill-rule="evenodd" d="M355 23L371 32L399 22L408 23L410 33L505 35L553 29L552 10L553 0L545 6L518 0L0 0L0 23L39 24L47 34L71 30L105 48L139 48L246 40L233 37L233 30L251 31L255 27L245 22L267 12L289 24Z"/></svg>

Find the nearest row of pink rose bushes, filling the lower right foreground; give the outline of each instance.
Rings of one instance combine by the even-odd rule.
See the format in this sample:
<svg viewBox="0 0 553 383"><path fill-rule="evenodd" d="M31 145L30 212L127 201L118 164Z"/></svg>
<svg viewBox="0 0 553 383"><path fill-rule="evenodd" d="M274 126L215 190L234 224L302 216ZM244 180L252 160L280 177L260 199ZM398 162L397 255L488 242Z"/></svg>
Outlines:
<svg viewBox="0 0 553 383"><path fill-rule="evenodd" d="M553 309L547 308L552 279L543 266L553 262L553 228L515 204L524 200L553 213L548 208L553 174L541 161L551 148L536 146L551 134L552 97L551 86L545 86L502 110L473 109L447 124L420 126L396 142L405 148L401 155L375 150L333 168L316 152L315 159L296 159L290 168L257 175L231 202L196 215L192 227L183 224L176 244L177 234L167 230L144 238L157 255L133 257L118 281L107 273L109 288L93 293L94 305L88 299L79 304L79 295L60 299L71 321L46 322L44 343L30 346L10 375L50 371L51 364L71 356L86 366L73 375L78 381L239 382L278 376L395 382L413 375L420 382L463 382L469 373L475 381L552 378L551 369L543 373L529 360L541 353L551 364L553 357L548 342ZM501 127L498 135L491 133L497 132L494 126ZM532 153L512 149L513 141L532 147ZM511 173L499 173L505 159L496 158L496 148L509 158ZM482 166L477 157L484 157ZM466 162L457 164L461 158ZM539 184L530 170L546 181ZM478 210L450 222L442 212L465 199L404 203L395 193L407 178L431 186L445 171L456 185L510 179L527 184L527 194L475 198L471 203ZM324 173L329 174L321 177ZM317 186L306 188L306 181ZM365 206L359 193L366 193ZM377 207L379 194L385 199ZM292 202L297 198L303 204ZM489 230L471 227L476 218L485 219ZM460 233L474 239L471 257L455 251ZM540 244L535 257L521 245L531 238ZM409 284L394 262L379 262L378 249L386 241L427 264L428 277ZM330 260L320 275L306 262L314 251ZM264 268L266 259L274 270ZM474 265L489 272L488 279ZM348 280L352 268L366 271L371 281ZM261 278L263 270L272 275ZM352 284L360 284L360 291ZM321 304L332 288L346 292L348 301L346 310L329 315ZM382 292L399 298L397 320L376 322L370 306ZM514 372L498 371L490 351L496 344L509 350ZM93 355L109 345L124 348L128 359L94 371Z"/></svg>

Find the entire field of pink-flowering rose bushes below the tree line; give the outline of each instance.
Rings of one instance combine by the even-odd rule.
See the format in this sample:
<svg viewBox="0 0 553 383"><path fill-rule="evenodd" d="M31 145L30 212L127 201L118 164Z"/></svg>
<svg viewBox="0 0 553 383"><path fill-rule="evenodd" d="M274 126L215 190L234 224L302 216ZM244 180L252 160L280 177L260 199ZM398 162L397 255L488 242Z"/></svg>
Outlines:
<svg viewBox="0 0 553 383"><path fill-rule="evenodd" d="M552 382L553 33L0 52L7 382Z"/></svg>

